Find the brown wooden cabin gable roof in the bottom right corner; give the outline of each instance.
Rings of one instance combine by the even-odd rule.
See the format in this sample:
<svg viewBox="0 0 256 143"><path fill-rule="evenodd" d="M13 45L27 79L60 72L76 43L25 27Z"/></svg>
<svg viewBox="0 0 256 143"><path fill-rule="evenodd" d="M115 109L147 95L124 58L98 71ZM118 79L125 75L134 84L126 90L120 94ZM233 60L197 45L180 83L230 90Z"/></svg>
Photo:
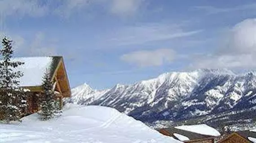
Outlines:
<svg viewBox="0 0 256 143"><path fill-rule="evenodd" d="M256 143L256 131L241 130L224 136L216 143Z"/></svg>

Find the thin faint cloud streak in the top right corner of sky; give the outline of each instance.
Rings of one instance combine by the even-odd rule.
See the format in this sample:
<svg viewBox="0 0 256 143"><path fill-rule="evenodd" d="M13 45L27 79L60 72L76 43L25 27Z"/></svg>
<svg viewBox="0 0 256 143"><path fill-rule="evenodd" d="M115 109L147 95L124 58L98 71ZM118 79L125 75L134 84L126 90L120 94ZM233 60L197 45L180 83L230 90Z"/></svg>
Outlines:
<svg viewBox="0 0 256 143"><path fill-rule="evenodd" d="M255 10L256 11L256 3L239 5L232 8L216 8L213 6L195 6L195 9L204 10L207 14L217 14L217 13L229 13L233 11L243 11L243 10Z"/></svg>

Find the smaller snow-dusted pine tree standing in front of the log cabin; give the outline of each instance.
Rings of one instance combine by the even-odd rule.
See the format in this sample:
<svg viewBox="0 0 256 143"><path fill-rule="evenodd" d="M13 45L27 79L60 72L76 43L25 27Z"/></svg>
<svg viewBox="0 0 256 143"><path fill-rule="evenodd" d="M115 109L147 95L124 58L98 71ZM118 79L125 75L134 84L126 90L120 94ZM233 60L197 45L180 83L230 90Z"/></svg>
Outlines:
<svg viewBox="0 0 256 143"><path fill-rule="evenodd" d="M53 118L56 112L56 101L53 92L53 83L51 82L49 71L46 70L43 77L43 95L41 98L41 110L39 114L42 120Z"/></svg>

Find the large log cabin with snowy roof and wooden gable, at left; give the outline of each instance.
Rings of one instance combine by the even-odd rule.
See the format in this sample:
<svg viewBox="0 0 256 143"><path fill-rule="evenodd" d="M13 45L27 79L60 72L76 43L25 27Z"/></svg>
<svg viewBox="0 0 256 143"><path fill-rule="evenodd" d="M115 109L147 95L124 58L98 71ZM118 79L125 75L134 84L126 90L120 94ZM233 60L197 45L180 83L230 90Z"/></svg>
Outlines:
<svg viewBox="0 0 256 143"><path fill-rule="evenodd" d="M29 89L26 94L27 108L23 109L23 116L40 110L40 97L43 94L41 86L46 71L54 83L53 91L60 108L63 106L63 98L71 97L71 88L62 56L22 57L12 60L24 62L18 67L18 70L23 72L23 76L19 79L20 87Z"/></svg>

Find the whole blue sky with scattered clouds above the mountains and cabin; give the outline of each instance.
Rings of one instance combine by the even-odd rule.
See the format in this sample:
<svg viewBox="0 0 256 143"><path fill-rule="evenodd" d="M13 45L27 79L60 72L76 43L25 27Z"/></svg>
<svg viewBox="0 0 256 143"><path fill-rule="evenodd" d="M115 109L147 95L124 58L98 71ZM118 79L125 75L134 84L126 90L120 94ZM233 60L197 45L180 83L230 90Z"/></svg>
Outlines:
<svg viewBox="0 0 256 143"><path fill-rule="evenodd" d="M63 55L71 87L256 68L255 0L0 0L16 56Z"/></svg>

